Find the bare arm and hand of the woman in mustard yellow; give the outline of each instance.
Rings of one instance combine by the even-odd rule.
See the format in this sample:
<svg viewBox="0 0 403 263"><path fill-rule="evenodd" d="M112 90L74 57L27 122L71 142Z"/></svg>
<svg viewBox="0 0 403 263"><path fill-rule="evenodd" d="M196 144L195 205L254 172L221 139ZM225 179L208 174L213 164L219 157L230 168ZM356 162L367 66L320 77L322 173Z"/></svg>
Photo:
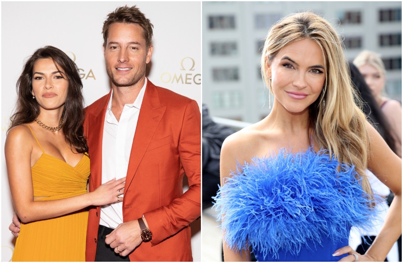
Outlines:
<svg viewBox="0 0 403 263"><path fill-rule="evenodd" d="M25 127L16 126L8 132L5 143L8 182L15 210L22 222L54 218L90 205L105 205L117 201L118 189L125 186L125 178L109 181L92 193L58 200L34 201L31 175L33 142Z"/></svg>

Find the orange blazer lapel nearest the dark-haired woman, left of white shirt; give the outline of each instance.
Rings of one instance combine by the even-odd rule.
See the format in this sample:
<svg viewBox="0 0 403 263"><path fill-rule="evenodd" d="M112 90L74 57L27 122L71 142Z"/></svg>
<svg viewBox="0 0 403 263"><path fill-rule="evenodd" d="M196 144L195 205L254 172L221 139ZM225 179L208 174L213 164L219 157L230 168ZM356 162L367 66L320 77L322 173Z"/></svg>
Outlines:
<svg viewBox="0 0 403 263"><path fill-rule="evenodd" d="M87 143L91 165L91 175L89 178L93 187L92 191L102 184L102 136L104 134L106 107L108 106L111 93L112 89L109 95L100 101L98 107L88 114L88 118L90 119L88 122Z"/></svg>

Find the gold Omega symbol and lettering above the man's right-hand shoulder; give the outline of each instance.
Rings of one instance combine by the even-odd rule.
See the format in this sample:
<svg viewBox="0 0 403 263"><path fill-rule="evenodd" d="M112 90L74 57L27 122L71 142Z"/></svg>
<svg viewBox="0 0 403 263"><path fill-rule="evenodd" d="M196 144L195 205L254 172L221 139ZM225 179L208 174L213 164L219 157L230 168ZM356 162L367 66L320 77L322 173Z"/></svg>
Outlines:
<svg viewBox="0 0 403 263"><path fill-rule="evenodd" d="M195 60L190 57L183 58L181 60L180 70L184 71L194 71L195 70ZM197 84L201 83L202 75L190 73L174 73L173 76L169 72L164 72L161 74L161 81L164 83L182 83L182 84Z"/></svg>

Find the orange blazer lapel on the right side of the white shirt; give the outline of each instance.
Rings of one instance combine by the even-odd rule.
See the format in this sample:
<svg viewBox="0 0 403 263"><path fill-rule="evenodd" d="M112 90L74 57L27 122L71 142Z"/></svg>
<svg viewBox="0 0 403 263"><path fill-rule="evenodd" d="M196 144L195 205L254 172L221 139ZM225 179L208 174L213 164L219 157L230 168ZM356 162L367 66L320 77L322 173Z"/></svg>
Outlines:
<svg viewBox="0 0 403 263"><path fill-rule="evenodd" d="M127 168L125 192L130 187L151 138L164 115L166 106L162 106L158 98L158 90L147 79L143 102L141 103L136 132L131 146L129 166Z"/></svg>

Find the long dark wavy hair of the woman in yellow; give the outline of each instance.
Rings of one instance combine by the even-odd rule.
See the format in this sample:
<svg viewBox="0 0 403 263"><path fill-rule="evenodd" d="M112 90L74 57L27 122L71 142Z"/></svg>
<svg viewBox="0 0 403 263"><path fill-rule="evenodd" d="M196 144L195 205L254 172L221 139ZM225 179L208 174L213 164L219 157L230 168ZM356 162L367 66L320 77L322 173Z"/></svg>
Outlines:
<svg viewBox="0 0 403 263"><path fill-rule="evenodd" d="M39 115L39 104L32 98L32 74L33 66L37 60L51 58L56 66L65 73L69 82L66 102L64 103L62 131L66 142L68 142L79 153L88 152L87 140L84 137L84 97L81 92L83 82L79 75L77 65L66 53L52 46L41 47L27 60L23 72L17 80L17 105L15 113L11 116L12 127L30 123Z"/></svg>

